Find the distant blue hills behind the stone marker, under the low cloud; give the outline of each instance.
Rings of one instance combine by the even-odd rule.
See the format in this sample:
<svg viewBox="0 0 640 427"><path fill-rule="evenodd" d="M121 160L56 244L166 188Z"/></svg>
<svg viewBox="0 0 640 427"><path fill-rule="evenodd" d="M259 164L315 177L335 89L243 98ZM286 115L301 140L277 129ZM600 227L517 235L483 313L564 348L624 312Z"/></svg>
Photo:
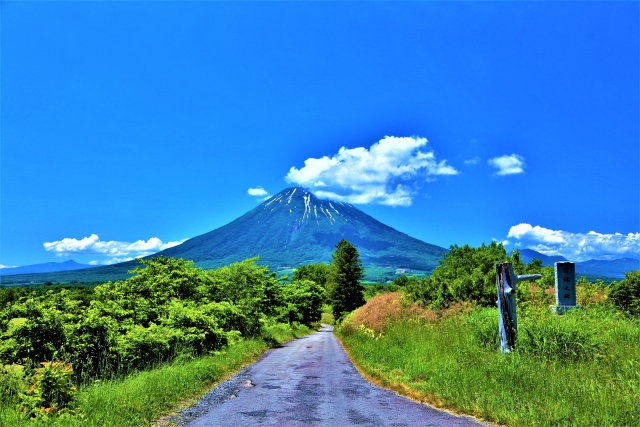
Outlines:
<svg viewBox="0 0 640 427"><path fill-rule="evenodd" d="M555 262L568 261L562 256L548 256L532 249L522 249L520 251L520 257L525 263L530 262L533 258L537 258L542 261L542 265L544 266L553 266ZM638 269L640 269L640 261L633 258L614 260L590 259L588 261L576 262L576 274L588 277L596 276L621 279L624 278L624 273Z"/></svg>

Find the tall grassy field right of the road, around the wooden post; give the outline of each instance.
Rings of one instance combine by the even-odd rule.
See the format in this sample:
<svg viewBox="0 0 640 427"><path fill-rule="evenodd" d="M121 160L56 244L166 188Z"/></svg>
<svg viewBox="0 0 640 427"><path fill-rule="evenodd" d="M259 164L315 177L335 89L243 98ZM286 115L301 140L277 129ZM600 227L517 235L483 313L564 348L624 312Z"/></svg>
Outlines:
<svg viewBox="0 0 640 427"><path fill-rule="evenodd" d="M519 312L518 351L502 355L497 310L432 311L380 295L337 334L374 382L509 426L640 426L640 326L602 305Z"/></svg>

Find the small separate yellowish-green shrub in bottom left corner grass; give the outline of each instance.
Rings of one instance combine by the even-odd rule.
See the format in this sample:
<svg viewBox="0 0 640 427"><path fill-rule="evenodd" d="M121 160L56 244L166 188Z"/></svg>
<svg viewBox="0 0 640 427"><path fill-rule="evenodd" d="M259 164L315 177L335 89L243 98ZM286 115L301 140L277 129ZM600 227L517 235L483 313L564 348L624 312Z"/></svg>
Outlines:
<svg viewBox="0 0 640 427"><path fill-rule="evenodd" d="M42 362L31 379L31 387L21 396L22 412L32 417L52 415L68 408L76 388L71 381L71 363Z"/></svg>

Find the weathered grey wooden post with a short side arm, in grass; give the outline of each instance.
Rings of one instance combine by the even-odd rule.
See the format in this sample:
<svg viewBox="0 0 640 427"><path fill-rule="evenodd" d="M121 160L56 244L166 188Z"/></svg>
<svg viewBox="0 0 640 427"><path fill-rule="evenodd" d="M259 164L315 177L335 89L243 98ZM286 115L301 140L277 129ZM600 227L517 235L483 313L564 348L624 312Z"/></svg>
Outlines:
<svg viewBox="0 0 640 427"><path fill-rule="evenodd" d="M510 262L496 264L496 286L498 287L498 330L500 351L509 353L518 338L516 317L516 283L540 279L540 274L517 276Z"/></svg>

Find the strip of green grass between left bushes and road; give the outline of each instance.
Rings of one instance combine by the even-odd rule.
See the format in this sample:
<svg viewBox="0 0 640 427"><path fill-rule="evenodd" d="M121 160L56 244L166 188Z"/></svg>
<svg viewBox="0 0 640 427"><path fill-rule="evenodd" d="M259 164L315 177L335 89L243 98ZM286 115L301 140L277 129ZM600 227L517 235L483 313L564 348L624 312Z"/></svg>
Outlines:
<svg viewBox="0 0 640 427"><path fill-rule="evenodd" d="M29 420L17 409L15 399L5 399L0 403L0 427L148 426L181 402L204 394L253 362L271 345L309 332L312 330L305 327L291 329L277 324L268 328L267 340L244 340L215 356L177 360L150 371L84 386L79 390L76 405L81 417ZM6 375L0 378L3 382L10 379ZM0 382L0 390L3 385Z"/></svg>

